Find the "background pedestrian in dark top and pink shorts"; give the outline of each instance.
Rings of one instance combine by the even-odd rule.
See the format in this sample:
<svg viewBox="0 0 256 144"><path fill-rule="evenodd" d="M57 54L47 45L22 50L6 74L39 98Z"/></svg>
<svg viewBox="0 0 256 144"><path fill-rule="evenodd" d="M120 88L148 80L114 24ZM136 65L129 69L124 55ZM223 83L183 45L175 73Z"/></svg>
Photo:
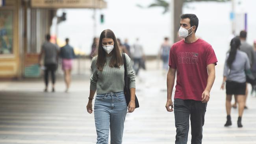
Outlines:
<svg viewBox="0 0 256 144"><path fill-rule="evenodd" d="M65 92L69 91L71 82L72 59L76 57L74 48L69 45L69 38L65 39L66 45L60 49L60 57L62 58L62 70L64 72L64 81L66 84Z"/></svg>

